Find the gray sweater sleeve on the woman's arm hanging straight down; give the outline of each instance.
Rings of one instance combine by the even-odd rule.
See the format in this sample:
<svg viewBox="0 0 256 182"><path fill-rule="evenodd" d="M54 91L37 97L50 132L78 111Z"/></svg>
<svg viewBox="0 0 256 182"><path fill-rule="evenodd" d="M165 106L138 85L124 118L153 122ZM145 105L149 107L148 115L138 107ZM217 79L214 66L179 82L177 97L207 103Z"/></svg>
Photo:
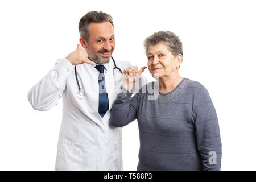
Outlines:
<svg viewBox="0 0 256 182"><path fill-rule="evenodd" d="M221 138L218 118L212 100L203 87L195 101L195 127L197 150L203 170L220 170Z"/></svg>

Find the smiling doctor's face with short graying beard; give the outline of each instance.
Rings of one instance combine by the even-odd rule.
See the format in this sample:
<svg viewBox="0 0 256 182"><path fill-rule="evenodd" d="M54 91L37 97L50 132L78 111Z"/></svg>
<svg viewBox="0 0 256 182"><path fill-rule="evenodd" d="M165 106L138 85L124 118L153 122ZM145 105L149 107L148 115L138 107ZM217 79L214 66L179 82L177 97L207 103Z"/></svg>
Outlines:
<svg viewBox="0 0 256 182"><path fill-rule="evenodd" d="M98 63L109 63L115 48L114 27L109 22L90 23L86 51L89 59Z"/></svg>

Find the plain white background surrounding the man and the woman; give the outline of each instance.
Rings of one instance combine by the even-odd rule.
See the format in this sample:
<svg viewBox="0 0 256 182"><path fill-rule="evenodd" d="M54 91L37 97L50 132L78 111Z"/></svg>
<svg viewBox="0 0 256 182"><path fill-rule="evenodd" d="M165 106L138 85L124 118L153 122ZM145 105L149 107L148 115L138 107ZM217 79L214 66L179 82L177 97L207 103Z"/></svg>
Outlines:
<svg viewBox="0 0 256 182"><path fill-rule="evenodd" d="M1 1L0 169L53 170L62 101L32 109L27 93L55 61L76 48L88 11L113 16L115 60L146 65L143 40L175 32L180 75L201 82L216 107L222 170L255 170L255 1ZM143 73L149 80L148 69ZM123 169L136 170L137 122L123 127Z"/></svg>

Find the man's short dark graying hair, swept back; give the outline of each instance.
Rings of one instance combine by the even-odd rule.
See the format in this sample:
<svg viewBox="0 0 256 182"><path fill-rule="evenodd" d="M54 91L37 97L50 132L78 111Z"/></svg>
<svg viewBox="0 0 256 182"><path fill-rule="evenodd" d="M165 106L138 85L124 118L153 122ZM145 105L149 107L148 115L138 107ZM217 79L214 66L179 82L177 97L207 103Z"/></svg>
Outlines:
<svg viewBox="0 0 256 182"><path fill-rule="evenodd" d="M79 21L79 33L82 38L86 41L89 39L88 26L90 23L102 23L109 22L114 27L112 16L103 13L102 11L89 11L86 15L82 16Z"/></svg>

